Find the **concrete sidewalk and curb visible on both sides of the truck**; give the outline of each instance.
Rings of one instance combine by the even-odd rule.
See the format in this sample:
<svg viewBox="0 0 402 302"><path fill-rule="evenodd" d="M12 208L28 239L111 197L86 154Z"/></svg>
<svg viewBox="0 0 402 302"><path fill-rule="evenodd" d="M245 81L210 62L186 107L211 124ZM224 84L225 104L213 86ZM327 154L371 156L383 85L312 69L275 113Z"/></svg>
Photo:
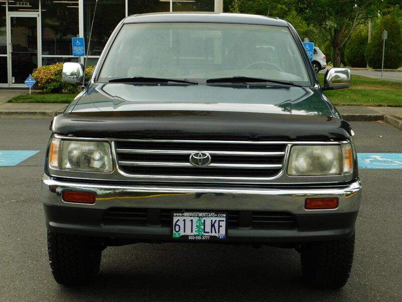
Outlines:
<svg viewBox="0 0 402 302"><path fill-rule="evenodd" d="M7 103L12 97L27 94L26 90L0 90L0 118L51 119L68 104ZM402 130L402 107L336 106L346 121L378 121ZM395 117L398 116L399 118Z"/></svg>

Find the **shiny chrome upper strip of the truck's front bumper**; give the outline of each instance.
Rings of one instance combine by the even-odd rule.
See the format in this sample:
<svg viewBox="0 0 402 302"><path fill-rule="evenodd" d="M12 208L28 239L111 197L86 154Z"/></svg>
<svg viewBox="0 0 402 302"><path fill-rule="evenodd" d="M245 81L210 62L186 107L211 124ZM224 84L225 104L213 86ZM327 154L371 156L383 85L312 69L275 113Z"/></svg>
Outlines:
<svg viewBox="0 0 402 302"><path fill-rule="evenodd" d="M95 204L64 202L63 190L96 194ZM338 197L339 206L331 210L306 210L306 198ZM43 203L74 208L107 209L180 208L193 210L259 210L297 214L329 214L357 212L360 206L360 180L341 188L262 189L228 187L187 187L167 185L98 185L74 181L58 181L42 177Z"/></svg>

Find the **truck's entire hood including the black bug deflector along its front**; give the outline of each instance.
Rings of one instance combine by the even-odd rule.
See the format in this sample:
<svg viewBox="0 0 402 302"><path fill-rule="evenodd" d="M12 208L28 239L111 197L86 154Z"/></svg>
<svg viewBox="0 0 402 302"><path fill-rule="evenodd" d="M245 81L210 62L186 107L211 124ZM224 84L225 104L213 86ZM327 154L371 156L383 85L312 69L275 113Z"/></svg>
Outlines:
<svg viewBox="0 0 402 302"><path fill-rule="evenodd" d="M55 117L52 130L110 138L340 140L350 126L338 117L309 88L105 84Z"/></svg>

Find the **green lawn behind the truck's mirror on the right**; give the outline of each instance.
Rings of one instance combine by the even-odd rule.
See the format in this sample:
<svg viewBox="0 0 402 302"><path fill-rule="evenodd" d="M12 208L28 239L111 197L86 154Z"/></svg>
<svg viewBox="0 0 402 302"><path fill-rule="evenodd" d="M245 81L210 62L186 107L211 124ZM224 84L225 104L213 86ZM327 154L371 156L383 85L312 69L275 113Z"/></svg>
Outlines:
<svg viewBox="0 0 402 302"><path fill-rule="evenodd" d="M319 74L321 85L324 74ZM402 107L402 83L353 75L348 89L325 91L334 105Z"/></svg>

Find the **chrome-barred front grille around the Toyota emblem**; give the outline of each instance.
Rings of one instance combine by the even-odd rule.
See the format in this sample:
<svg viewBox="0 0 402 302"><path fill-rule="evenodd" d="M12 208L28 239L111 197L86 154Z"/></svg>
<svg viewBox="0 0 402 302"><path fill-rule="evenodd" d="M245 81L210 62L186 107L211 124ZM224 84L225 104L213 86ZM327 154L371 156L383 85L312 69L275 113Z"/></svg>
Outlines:
<svg viewBox="0 0 402 302"><path fill-rule="evenodd" d="M116 141L119 170L132 176L269 178L283 167L286 143L244 141ZM191 154L211 156L211 164L196 167Z"/></svg>

